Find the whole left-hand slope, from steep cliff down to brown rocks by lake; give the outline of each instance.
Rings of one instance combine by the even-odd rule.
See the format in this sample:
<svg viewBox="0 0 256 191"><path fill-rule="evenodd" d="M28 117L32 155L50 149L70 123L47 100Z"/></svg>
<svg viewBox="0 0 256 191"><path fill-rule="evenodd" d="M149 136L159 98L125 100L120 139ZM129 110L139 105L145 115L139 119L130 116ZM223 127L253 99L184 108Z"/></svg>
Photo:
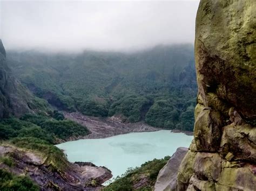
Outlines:
<svg viewBox="0 0 256 191"><path fill-rule="evenodd" d="M90 162L73 164L53 146L83 138L89 130L31 94L12 75L5 55L0 40L0 190L100 187L112 177L108 169Z"/></svg>

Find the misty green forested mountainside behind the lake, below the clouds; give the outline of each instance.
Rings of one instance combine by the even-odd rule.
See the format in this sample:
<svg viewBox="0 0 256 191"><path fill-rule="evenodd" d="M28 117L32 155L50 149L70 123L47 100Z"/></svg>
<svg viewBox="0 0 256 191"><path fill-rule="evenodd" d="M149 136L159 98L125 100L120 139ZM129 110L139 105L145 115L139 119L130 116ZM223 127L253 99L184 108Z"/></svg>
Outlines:
<svg viewBox="0 0 256 191"><path fill-rule="evenodd" d="M7 56L23 84L58 109L193 130L190 114L197 95L193 54L193 46L184 44L135 53L8 52Z"/></svg>

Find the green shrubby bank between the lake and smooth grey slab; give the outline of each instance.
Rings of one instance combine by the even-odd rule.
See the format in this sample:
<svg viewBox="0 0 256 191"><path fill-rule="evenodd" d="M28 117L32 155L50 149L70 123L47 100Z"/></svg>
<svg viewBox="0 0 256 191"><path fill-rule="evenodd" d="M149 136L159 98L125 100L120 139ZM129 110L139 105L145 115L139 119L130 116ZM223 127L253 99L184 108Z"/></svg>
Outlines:
<svg viewBox="0 0 256 191"><path fill-rule="evenodd" d="M164 159L154 159L145 162L142 166L131 168L121 177L117 177L114 182L104 188L105 191L123 191L123 190L152 190L156 183L158 173L161 168L170 159L169 156ZM144 185L134 188L134 185L140 181L145 181Z"/></svg>

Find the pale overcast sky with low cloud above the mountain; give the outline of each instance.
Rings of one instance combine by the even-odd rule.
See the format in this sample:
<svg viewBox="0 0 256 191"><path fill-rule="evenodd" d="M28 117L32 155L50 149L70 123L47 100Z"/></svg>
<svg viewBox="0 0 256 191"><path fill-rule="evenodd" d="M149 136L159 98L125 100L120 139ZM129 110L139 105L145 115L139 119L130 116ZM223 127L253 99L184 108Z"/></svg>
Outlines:
<svg viewBox="0 0 256 191"><path fill-rule="evenodd" d="M193 43L199 0L2 1L6 49L125 51Z"/></svg>

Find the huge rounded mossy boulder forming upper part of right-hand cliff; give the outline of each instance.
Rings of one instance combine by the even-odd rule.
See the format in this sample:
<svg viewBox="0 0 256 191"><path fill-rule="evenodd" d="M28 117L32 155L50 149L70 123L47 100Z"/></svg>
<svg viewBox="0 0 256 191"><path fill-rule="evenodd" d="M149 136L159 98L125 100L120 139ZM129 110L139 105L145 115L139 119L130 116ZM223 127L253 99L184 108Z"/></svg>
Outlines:
<svg viewBox="0 0 256 191"><path fill-rule="evenodd" d="M201 0L196 19L196 69L205 106L214 93L248 119L256 117L255 10L254 0Z"/></svg>

